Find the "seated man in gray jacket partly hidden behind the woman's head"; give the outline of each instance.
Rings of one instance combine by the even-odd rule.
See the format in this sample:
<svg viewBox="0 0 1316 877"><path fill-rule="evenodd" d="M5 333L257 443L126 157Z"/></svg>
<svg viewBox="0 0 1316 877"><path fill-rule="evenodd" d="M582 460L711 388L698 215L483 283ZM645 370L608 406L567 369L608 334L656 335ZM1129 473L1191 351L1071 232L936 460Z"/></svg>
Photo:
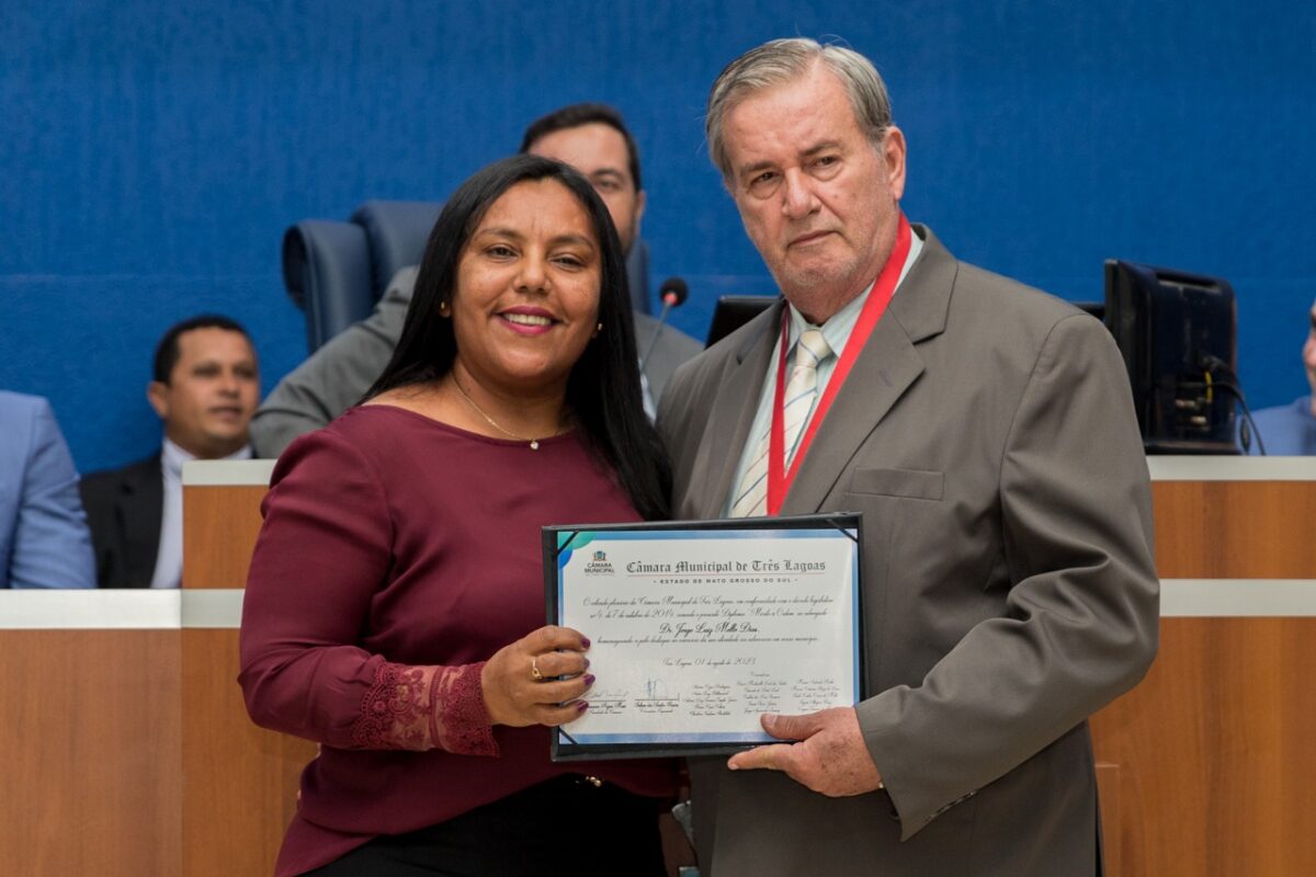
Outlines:
<svg viewBox="0 0 1316 877"><path fill-rule="evenodd" d="M645 191L640 153L617 110L603 104L563 107L525 130L520 151L580 171L607 205L621 249L630 252L640 237ZM361 400L393 354L415 284L415 266L399 271L370 317L330 339L279 381L251 422L257 455L278 456L292 439L325 426ZM644 356L658 325L649 314L636 313L634 320ZM671 373L700 350L699 342L672 326L657 335L641 375L650 415Z"/></svg>

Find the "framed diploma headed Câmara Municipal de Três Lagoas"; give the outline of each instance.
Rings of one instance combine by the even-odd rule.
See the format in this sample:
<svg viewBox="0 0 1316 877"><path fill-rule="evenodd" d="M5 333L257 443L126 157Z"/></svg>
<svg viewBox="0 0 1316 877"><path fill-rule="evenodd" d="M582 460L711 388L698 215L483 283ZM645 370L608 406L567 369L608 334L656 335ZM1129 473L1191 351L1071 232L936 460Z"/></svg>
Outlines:
<svg viewBox="0 0 1316 877"><path fill-rule="evenodd" d="M858 514L544 529L550 625L590 638L555 761L724 753L863 692Z"/></svg>

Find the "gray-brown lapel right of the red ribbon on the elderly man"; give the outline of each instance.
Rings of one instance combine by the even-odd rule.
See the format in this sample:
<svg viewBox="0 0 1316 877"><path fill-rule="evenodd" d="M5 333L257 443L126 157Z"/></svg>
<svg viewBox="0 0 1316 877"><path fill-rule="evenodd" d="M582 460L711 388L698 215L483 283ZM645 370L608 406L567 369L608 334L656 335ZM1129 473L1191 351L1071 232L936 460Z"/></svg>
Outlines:
<svg viewBox="0 0 1316 877"><path fill-rule="evenodd" d="M945 330L955 260L932 231L919 227L924 250L819 425L782 514L821 509L859 446L924 372L915 344Z"/></svg>

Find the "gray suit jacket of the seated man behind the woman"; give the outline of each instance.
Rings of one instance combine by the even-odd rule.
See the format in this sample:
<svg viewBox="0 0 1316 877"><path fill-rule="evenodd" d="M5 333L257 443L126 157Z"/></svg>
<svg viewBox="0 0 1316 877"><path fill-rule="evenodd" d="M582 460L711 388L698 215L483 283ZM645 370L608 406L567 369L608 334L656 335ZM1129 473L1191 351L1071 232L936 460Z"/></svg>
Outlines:
<svg viewBox="0 0 1316 877"><path fill-rule="evenodd" d="M415 267L399 271L370 317L329 339L279 381L251 419L251 444L257 456L279 456L292 439L328 425L361 401L401 338L416 273ZM657 320L638 312L634 318L636 344L644 352ZM676 367L699 351L699 342L679 329L666 326L662 330L645 366L654 400L662 396Z"/></svg>

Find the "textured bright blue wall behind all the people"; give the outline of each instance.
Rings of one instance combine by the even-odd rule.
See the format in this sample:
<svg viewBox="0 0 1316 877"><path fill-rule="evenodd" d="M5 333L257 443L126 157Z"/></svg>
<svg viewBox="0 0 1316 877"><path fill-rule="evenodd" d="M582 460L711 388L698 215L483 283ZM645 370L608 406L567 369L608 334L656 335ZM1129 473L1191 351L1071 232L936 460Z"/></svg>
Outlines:
<svg viewBox="0 0 1316 877"><path fill-rule="evenodd" d="M158 443L171 322L229 313L266 391L304 356L279 241L367 197L442 199L558 105L638 138L654 280L771 292L703 150L717 71L837 34L888 80L905 209L961 258L1071 300L1119 256L1221 275L1254 406L1304 392L1316 296L1316 12L1303 0L684 4L7 3L0 387L53 400L82 471Z"/></svg>

